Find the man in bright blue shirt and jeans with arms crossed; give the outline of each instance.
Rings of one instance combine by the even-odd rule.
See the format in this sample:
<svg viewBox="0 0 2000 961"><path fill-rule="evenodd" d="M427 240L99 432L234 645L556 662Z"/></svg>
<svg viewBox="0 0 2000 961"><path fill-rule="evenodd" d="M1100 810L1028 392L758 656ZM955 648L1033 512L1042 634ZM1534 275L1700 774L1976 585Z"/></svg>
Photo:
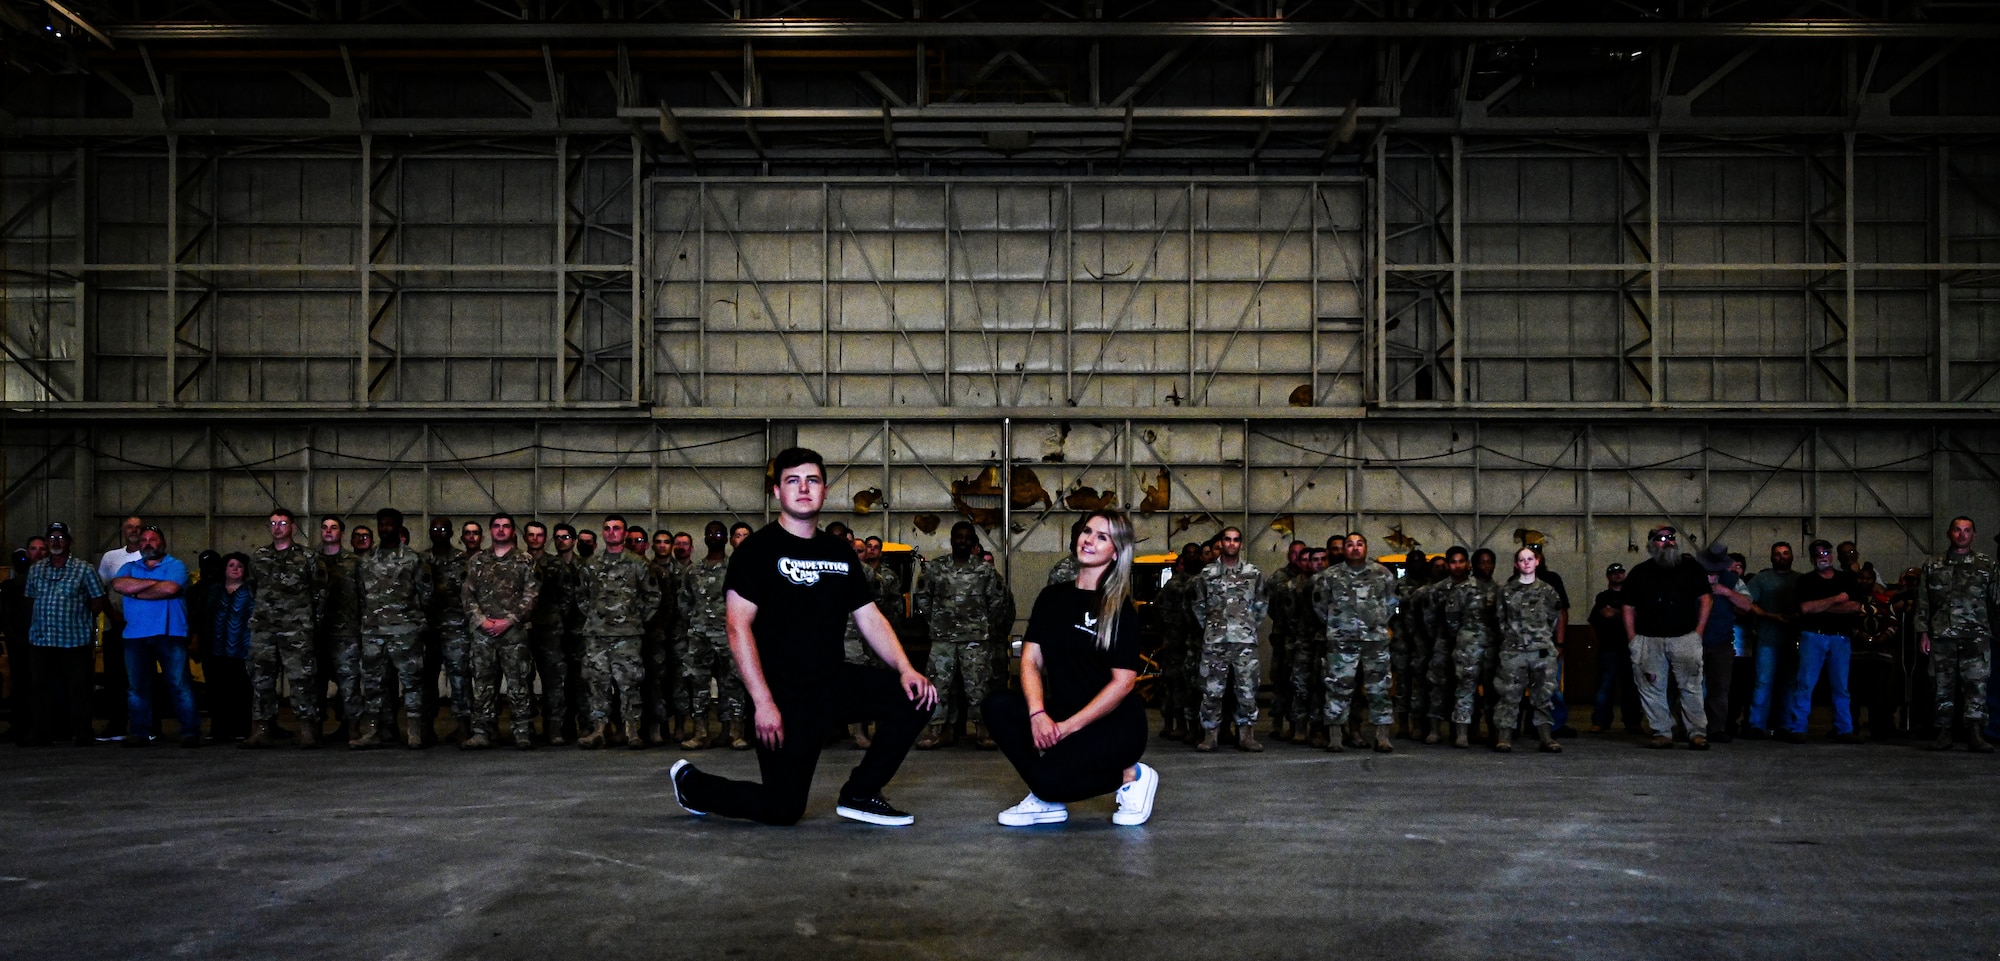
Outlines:
<svg viewBox="0 0 2000 961"><path fill-rule="evenodd" d="M124 597L126 611L126 747L146 747L152 741L152 667L160 665L166 687L174 693L174 717L180 719L180 747L202 747L202 719L194 715L194 685L188 681L188 607L180 599L188 589L188 567L168 557L166 535L146 527L138 535L138 561L126 561L112 577L112 591Z"/></svg>

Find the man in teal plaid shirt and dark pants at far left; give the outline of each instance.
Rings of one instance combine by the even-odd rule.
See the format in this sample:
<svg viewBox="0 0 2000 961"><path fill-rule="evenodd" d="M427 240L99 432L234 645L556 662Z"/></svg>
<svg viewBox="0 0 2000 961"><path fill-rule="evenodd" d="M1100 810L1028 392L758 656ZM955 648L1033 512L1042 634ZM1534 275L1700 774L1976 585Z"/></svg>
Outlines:
<svg viewBox="0 0 2000 961"><path fill-rule="evenodd" d="M96 745L90 731L90 681L96 671L90 629L104 611L104 583L90 563L70 555L70 525L48 525L48 557L28 569L22 597L34 601L28 643L34 645L34 745L56 731L56 687L70 695L70 737Z"/></svg>

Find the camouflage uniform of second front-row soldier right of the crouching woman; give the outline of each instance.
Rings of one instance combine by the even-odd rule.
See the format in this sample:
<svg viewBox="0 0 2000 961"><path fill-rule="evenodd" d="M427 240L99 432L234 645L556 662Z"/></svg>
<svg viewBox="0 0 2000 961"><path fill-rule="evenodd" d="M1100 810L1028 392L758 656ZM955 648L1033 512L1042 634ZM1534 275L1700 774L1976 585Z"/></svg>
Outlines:
<svg viewBox="0 0 2000 961"><path fill-rule="evenodd" d="M1372 561L1342 561L1312 579L1312 611L1326 623L1326 727L1346 721L1356 679L1370 721L1392 723L1388 623L1396 617L1396 575Z"/></svg>

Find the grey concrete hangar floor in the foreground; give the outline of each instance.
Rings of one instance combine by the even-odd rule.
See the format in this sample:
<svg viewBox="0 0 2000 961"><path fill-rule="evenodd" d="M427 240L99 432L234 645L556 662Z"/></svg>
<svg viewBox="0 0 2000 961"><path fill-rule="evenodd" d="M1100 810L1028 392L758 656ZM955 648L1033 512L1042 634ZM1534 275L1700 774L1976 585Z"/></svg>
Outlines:
<svg viewBox="0 0 2000 961"><path fill-rule="evenodd" d="M680 751L0 747L0 957L1996 957L2000 755L1560 757L1154 741L1154 821L1002 829L912 755L912 829L684 815ZM752 775L748 753L696 761ZM1336 955L1338 957L1338 955Z"/></svg>

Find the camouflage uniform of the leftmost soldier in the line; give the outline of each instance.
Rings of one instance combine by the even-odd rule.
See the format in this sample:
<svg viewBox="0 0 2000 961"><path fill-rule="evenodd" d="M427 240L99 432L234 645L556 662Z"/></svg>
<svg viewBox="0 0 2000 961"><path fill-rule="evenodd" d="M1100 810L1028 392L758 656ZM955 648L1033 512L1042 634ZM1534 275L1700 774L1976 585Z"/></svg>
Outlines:
<svg viewBox="0 0 2000 961"><path fill-rule="evenodd" d="M292 685L292 713L300 721L320 719L318 689L324 685L314 665L312 615L326 593L326 571L312 551L272 545L250 557L256 581L256 609L250 611L250 717L278 719L278 675Z"/></svg>

